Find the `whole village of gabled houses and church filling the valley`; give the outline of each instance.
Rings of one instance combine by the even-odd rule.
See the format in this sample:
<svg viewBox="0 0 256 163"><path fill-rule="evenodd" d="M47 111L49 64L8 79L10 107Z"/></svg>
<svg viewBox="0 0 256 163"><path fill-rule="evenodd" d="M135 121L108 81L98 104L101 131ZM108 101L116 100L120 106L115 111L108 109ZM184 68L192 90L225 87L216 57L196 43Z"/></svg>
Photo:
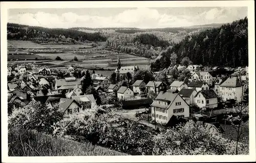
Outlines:
<svg viewBox="0 0 256 163"><path fill-rule="evenodd" d="M223 132L216 119L209 120L212 111L223 110L224 106L232 108L232 104L244 101L248 95L248 67L225 68L240 75L212 76L218 67L212 67L208 72L203 71L201 65L179 65L180 71L190 71L190 78L166 84L159 80L134 80L140 71L139 66L121 66L119 53L117 58L117 68L111 76L94 71L90 73L74 66L68 66L65 74L33 64L9 66L9 102L35 100L45 105L57 103L67 115L93 105L111 105L127 118L141 119L141 123L155 129L175 126L194 118L207 122L206 125L214 132ZM159 72L148 70L148 73L155 77ZM168 78L168 70L163 70L161 75ZM84 80L88 79L92 81L91 90L86 92L83 89L89 85L84 86L87 85ZM128 80L126 85L116 82L122 80ZM88 92L90 94L86 94Z"/></svg>

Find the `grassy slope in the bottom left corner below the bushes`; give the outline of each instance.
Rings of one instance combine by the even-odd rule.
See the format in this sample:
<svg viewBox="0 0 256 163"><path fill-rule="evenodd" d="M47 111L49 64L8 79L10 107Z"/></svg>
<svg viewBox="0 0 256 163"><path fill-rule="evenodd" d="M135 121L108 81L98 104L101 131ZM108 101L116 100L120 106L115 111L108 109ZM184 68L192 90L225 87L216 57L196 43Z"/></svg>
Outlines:
<svg viewBox="0 0 256 163"><path fill-rule="evenodd" d="M9 156L101 156L127 155L91 143L53 138L49 135L23 128L9 128Z"/></svg>

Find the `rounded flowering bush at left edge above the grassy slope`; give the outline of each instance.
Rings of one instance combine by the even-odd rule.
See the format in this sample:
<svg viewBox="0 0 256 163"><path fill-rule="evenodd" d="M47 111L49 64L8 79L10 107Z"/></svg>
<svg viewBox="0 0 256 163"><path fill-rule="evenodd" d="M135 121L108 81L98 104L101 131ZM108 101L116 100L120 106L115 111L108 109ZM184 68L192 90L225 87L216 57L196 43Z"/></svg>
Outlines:
<svg viewBox="0 0 256 163"><path fill-rule="evenodd" d="M57 106L46 106L32 100L24 107L15 108L8 117L8 124L52 133L52 125L61 119L62 113Z"/></svg>

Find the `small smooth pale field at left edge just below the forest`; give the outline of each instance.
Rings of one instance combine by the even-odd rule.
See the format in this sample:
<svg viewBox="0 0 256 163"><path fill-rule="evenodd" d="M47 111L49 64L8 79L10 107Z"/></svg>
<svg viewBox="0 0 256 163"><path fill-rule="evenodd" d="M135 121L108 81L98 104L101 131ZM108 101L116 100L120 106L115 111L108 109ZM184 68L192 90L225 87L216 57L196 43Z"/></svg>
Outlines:
<svg viewBox="0 0 256 163"><path fill-rule="evenodd" d="M32 41L23 41L23 40L8 40L8 47L15 48L46 48L40 44L36 44Z"/></svg>

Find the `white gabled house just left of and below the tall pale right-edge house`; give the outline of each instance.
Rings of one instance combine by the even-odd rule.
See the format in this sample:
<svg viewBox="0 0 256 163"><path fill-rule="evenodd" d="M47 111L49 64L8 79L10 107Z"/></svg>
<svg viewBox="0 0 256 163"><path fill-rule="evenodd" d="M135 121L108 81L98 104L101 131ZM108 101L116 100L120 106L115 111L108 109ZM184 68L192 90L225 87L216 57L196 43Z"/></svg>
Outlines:
<svg viewBox="0 0 256 163"><path fill-rule="evenodd" d="M217 94L214 90L202 90L195 96L195 104L200 108L216 108L218 106Z"/></svg>

